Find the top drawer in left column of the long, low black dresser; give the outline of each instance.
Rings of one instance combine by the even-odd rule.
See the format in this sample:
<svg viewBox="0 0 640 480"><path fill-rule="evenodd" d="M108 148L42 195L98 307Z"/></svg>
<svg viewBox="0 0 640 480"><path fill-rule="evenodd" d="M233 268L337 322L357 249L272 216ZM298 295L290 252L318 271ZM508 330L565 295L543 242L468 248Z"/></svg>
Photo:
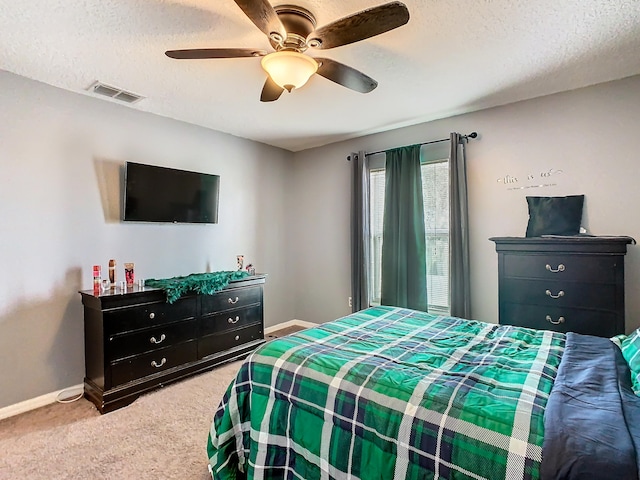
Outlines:
<svg viewBox="0 0 640 480"><path fill-rule="evenodd" d="M173 304L146 303L130 308L109 310L104 312L105 331L108 334L122 333L195 318L196 306L196 297L186 297Z"/></svg>

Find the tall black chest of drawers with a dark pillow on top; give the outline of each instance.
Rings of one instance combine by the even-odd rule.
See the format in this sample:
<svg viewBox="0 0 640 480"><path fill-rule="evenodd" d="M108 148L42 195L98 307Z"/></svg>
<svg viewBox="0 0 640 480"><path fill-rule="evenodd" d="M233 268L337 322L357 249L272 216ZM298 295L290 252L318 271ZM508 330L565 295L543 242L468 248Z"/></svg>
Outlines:
<svg viewBox="0 0 640 480"><path fill-rule="evenodd" d="M625 333L629 237L494 237L501 324L600 337Z"/></svg>

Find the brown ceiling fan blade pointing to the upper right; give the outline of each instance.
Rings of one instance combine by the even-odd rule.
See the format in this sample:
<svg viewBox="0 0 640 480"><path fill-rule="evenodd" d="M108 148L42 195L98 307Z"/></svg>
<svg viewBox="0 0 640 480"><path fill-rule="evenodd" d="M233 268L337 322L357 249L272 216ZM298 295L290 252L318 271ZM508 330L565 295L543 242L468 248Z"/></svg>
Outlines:
<svg viewBox="0 0 640 480"><path fill-rule="evenodd" d="M307 37L307 44L324 50L340 47L388 32L408 21L407 7L401 2L390 2L354 13L314 30Z"/></svg>

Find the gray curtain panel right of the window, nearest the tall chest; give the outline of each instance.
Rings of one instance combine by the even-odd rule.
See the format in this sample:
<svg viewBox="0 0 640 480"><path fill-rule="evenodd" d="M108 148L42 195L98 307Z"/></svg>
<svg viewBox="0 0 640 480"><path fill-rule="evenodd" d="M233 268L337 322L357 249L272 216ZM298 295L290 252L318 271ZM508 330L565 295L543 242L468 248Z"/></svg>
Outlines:
<svg viewBox="0 0 640 480"><path fill-rule="evenodd" d="M469 213L467 202L466 138L453 132L449 155L449 281L451 315L470 318Z"/></svg>

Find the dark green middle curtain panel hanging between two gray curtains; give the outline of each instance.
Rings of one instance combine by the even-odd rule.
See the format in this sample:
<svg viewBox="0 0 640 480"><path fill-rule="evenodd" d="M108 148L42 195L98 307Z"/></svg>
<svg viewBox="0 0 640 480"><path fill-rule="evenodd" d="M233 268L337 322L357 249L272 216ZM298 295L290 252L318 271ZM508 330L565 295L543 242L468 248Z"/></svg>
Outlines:
<svg viewBox="0 0 640 480"><path fill-rule="evenodd" d="M383 305L427 311L420 145L386 152L381 277Z"/></svg>

